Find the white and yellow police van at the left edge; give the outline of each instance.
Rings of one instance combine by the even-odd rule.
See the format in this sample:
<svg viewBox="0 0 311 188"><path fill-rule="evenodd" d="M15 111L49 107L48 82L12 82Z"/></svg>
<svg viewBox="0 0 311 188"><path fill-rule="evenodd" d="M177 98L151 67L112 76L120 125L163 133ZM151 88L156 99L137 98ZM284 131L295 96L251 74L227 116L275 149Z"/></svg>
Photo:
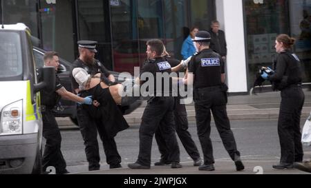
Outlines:
<svg viewBox="0 0 311 188"><path fill-rule="evenodd" d="M55 68L37 80L30 30L0 25L0 174L41 172L41 90L55 88Z"/></svg>

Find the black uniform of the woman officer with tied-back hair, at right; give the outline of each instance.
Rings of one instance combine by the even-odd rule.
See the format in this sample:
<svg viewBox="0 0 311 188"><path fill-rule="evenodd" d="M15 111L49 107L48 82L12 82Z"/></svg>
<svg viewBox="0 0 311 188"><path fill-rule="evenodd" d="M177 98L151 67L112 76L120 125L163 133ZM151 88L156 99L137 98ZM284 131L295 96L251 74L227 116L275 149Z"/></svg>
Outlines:
<svg viewBox="0 0 311 188"><path fill-rule="evenodd" d="M301 63L290 51L281 52L274 64L275 73L269 76L275 90L281 90L278 132L281 144L281 163L303 160L300 117L305 95L301 88Z"/></svg>

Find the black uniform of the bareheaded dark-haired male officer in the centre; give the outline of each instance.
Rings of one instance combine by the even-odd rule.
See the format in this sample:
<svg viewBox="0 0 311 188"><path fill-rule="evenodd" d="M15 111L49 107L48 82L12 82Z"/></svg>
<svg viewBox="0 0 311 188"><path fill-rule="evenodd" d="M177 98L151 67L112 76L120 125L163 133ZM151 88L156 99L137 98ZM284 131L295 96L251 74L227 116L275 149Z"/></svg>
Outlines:
<svg viewBox="0 0 311 188"><path fill-rule="evenodd" d="M142 74L150 72L156 78L157 72L171 73L171 66L166 59L157 58L154 61L148 61L142 67ZM168 83L165 83L168 84ZM164 91L164 81L162 80L162 88L156 87L156 79L154 82L154 97L149 99L147 107L142 115L142 123L140 125L140 152L136 163L144 166L151 165L151 146L153 134L155 134L159 125L162 128L162 135L169 148L168 159L171 162L180 162L180 152L175 134L175 125L173 121L174 98L171 96L171 83L169 91ZM149 88L150 89L150 88ZM152 92L149 90L149 92ZM170 96L164 97L165 94Z"/></svg>

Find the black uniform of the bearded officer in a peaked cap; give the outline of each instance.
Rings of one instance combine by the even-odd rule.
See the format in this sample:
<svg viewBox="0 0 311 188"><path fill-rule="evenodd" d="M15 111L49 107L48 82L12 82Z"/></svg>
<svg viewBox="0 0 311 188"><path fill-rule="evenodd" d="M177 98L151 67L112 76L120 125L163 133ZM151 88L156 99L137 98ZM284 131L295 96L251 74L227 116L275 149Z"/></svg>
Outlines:
<svg viewBox="0 0 311 188"><path fill-rule="evenodd" d="M97 73L104 73L104 76L102 77L108 77L110 75L108 70L106 70L104 65L102 65L102 63L99 61L96 61L93 65L86 65L83 61L77 59L75 62L73 62L73 69L75 67L82 67L88 72L88 74L91 75L95 75ZM72 74L70 74L70 76L73 90L79 88L79 85L75 81L75 78L73 78ZM107 79L105 82L108 82ZM93 105L91 106L96 108ZM106 163L108 163L112 168L120 166L121 156L117 152L117 145L113 136L106 136L107 133L105 132L105 129L102 129L104 122L92 118L90 114L88 114L88 107L85 105L77 105L77 120L79 123L79 129L84 139L86 159L88 160L88 169L100 169L100 150L97 142L97 129L104 146Z"/></svg>

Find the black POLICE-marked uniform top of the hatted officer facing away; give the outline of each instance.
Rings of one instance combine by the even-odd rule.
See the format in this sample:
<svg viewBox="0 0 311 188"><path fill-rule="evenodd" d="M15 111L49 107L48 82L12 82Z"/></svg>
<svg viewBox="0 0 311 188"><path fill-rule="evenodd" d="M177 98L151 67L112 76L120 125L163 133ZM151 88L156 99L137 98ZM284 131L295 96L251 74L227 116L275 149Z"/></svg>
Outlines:
<svg viewBox="0 0 311 188"><path fill-rule="evenodd" d="M219 54L211 49L205 49L192 57L189 72L194 74L194 88L221 85L225 63Z"/></svg>

